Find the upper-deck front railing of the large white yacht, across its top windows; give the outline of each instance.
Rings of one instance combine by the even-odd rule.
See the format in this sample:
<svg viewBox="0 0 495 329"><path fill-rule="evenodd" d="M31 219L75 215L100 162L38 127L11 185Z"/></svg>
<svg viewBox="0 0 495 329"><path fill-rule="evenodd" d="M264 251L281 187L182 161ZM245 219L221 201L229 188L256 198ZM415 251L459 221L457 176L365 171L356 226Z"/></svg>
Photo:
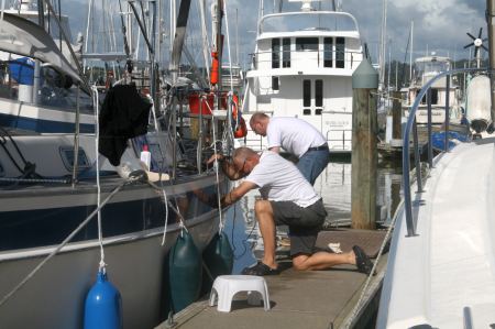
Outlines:
<svg viewBox="0 0 495 329"><path fill-rule="evenodd" d="M282 51L280 54L272 51L251 54L254 69L353 69L363 58L359 51L294 50Z"/></svg>

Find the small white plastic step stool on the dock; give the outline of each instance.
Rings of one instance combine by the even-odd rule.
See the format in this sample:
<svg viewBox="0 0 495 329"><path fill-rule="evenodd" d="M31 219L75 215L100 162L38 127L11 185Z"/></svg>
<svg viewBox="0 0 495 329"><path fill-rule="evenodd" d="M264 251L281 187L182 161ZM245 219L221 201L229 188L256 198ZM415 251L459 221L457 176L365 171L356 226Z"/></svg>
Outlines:
<svg viewBox="0 0 495 329"><path fill-rule="evenodd" d="M270 310L270 297L266 281L255 275L220 275L213 282L210 293L210 306L218 297L219 311L230 311L233 296L239 292L248 292L248 304L260 305L263 298L265 310ZM261 297L261 298L260 298Z"/></svg>

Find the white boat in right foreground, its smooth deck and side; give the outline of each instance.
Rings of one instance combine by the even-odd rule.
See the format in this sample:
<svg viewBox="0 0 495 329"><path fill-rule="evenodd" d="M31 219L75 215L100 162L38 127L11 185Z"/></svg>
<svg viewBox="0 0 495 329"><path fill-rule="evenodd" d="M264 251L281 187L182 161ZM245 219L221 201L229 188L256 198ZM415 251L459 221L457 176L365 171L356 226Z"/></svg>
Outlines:
<svg viewBox="0 0 495 329"><path fill-rule="evenodd" d="M422 188L404 173L376 328L493 328L495 139L439 154Z"/></svg>

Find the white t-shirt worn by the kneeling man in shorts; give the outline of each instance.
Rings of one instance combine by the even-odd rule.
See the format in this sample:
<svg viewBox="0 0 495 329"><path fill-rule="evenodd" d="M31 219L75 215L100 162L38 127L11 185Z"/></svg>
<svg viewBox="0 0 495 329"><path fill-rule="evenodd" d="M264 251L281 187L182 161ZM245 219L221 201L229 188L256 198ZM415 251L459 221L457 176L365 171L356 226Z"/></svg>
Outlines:
<svg viewBox="0 0 495 329"><path fill-rule="evenodd" d="M262 197L272 201L294 201L306 208L320 199L299 169L275 152L264 151L245 180L256 184Z"/></svg>

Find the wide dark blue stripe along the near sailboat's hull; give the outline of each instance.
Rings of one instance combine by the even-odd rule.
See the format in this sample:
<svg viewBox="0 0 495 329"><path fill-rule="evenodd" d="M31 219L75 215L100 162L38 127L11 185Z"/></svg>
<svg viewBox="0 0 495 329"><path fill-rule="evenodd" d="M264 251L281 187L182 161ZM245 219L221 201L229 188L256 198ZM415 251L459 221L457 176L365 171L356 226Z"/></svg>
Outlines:
<svg viewBox="0 0 495 329"><path fill-rule="evenodd" d="M202 189L202 197L213 188ZM197 218L213 209L199 200L198 193L176 196L180 213L188 219ZM173 199L170 199L173 200ZM65 207L0 212L0 251L36 248L61 243L84 221L95 206ZM142 232L164 226L165 205L161 197L108 204L101 211L103 237ZM179 219L168 209L168 223ZM98 238L97 216L72 240L72 242Z"/></svg>

